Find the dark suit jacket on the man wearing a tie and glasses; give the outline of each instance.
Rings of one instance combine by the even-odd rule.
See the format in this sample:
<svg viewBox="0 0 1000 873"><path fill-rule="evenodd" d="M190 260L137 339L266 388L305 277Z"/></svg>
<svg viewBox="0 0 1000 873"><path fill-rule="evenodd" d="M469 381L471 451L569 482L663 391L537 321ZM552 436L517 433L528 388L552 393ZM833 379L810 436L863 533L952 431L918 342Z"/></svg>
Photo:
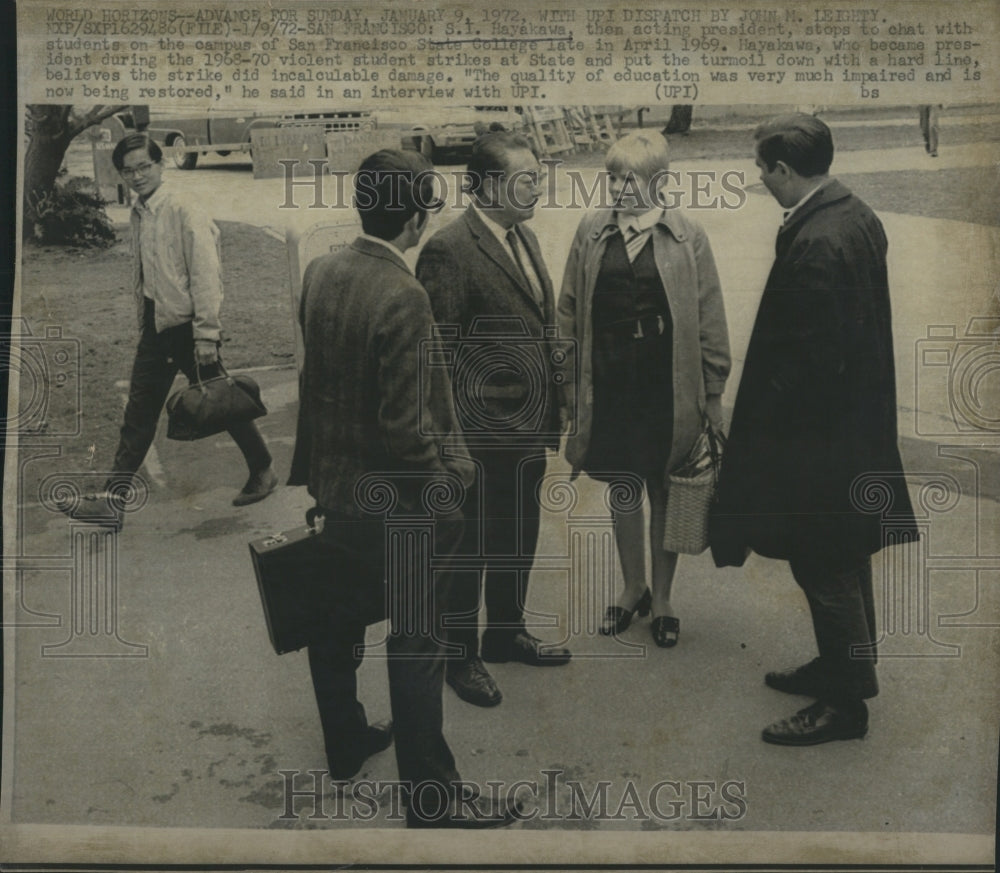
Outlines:
<svg viewBox="0 0 1000 873"><path fill-rule="evenodd" d="M559 445L552 281L535 235L523 224L518 232L542 284L541 306L472 205L431 237L417 262L435 320L455 333L455 406L470 447Z"/></svg>

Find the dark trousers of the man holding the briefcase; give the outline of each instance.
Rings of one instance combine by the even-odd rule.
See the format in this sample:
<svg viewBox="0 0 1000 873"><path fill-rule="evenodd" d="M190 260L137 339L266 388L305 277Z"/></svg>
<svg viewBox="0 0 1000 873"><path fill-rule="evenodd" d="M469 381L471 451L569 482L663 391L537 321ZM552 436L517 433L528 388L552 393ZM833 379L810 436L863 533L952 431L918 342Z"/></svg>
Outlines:
<svg viewBox="0 0 1000 873"><path fill-rule="evenodd" d="M331 770L353 773L364 762L363 735L368 725L358 700L357 669L364 652L370 601L358 592L371 590L373 580L385 578L385 523L381 518L347 520L324 513L320 536L339 572L344 554L364 556L346 561L354 578L335 581L338 593L330 609L328 632L309 646L309 669L319 708L320 723ZM454 552L462 536L461 515L441 517L435 523L435 558ZM455 758L443 733L441 692L444 687L442 641L433 629L440 622L448 574L435 572L406 579L389 579L386 590L390 616L386 642L389 699L395 735L396 764L401 781L446 787L458 780ZM339 601L339 602L338 602ZM383 612L384 614L384 612ZM435 793L435 797L438 795Z"/></svg>

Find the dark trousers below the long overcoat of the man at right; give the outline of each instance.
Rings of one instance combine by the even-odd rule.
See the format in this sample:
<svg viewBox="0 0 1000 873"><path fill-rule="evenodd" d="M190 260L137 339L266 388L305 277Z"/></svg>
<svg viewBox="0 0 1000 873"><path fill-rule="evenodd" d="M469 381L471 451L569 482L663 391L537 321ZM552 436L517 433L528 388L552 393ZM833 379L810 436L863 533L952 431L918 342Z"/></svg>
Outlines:
<svg viewBox="0 0 1000 873"><path fill-rule="evenodd" d="M878 680L871 558L833 567L817 558L793 558L789 563L812 613L823 699L844 705L874 697Z"/></svg>

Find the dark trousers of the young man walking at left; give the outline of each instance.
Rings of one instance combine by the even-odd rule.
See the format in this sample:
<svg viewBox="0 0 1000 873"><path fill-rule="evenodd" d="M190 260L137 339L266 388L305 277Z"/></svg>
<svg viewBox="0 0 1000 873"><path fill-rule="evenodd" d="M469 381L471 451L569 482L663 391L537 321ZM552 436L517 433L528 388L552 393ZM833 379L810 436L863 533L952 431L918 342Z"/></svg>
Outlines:
<svg viewBox="0 0 1000 873"><path fill-rule="evenodd" d="M154 304L146 298L142 335L132 364L125 420L112 467L115 473L132 474L142 466L156 436L160 412L167 402L178 370L187 376L189 382L197 381L191 323L168 327L157 333ZM218 364L201 367L200 370L202 379L219 375ZM243 453L251 473L270 466L271 453L252 421L229 428L229 435Z"/></svg>

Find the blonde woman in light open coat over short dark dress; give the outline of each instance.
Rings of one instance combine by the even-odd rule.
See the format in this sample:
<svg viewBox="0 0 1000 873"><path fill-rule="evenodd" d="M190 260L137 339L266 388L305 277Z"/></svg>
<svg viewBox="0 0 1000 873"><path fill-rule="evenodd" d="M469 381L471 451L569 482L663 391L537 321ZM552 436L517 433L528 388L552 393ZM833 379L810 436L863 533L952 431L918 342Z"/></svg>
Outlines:
<svg viewBox="0 0 1000 873"><path fill-rule="evenodd" d="M611 147L605 167L612 205L580 222L559 299L560 335L576 340L579 355L566 457L601 481L644 481L648 524L641 504L612 503L625 584L601 633L621 633L633 615L652 612L653 640L669 648L680 619L671 603L677 554L662 546L667 477L706 415L721 425L729 336L708 237L663 197L666 139L631 133Z"/></svg>

